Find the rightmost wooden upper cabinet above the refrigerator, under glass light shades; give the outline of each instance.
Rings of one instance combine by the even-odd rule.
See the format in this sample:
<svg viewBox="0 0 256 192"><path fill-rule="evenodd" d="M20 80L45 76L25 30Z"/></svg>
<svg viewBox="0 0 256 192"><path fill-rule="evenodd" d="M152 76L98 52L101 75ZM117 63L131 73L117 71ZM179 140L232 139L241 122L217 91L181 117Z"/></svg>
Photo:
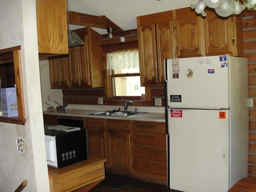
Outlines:
<svg viewBox="0 0 256 192"><path fill-rule="evenodd" d="M241 16L219 18L207 12L204 18L206 56L243 56Z"/></svg>

